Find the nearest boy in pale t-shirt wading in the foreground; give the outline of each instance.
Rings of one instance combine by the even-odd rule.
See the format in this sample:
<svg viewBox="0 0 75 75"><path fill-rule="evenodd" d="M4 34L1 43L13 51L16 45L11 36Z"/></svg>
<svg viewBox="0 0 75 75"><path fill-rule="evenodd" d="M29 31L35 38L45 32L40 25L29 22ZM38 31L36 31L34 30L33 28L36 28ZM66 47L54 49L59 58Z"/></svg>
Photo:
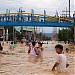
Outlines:
<svg viewBox="0 0 75 75"><path fill-rule="evenodd" d="M57 70L57 72L66 72L66 68L69 66L69 64L67 64L67 58L66 56L62 53L63 51L63 46L60 44L57 44L55 46L56 49L56 53L58 53L58 57L57 57L57 61L54 64L52 71Z"/></svg>

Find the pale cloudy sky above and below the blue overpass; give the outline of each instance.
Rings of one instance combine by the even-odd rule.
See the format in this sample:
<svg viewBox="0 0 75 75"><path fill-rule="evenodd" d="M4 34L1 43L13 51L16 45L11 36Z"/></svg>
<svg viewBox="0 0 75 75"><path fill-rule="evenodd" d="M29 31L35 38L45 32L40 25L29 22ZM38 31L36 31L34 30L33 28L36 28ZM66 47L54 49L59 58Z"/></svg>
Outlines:
<svg viewBox="0 0 75 75"><path fill-rule="evenodd" d="M71 16L74 13L75 0L71 1ZM34 13L43 14L44 10L48 15L56 15L56 11L61 15L64 11L69 9L69 0L0 0L0 13L4 13L6 9L11 12L18 11L22 7L25 12L31 12L34 9ZM53 28L44 27L44 32L52 32Z"/></svg>

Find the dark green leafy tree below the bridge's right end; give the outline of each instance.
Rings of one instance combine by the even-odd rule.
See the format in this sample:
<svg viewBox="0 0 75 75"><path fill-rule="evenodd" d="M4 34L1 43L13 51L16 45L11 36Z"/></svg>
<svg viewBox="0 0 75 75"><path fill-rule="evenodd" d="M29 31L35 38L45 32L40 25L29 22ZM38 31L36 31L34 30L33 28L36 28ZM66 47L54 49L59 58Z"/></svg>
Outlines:
<svg viewBox="0 0 75 75"><path fill-rule="evenodd" d="M60 41L72 41L74 40L74 27L72 26L69 29L59 30L58 39Z"/></svg>

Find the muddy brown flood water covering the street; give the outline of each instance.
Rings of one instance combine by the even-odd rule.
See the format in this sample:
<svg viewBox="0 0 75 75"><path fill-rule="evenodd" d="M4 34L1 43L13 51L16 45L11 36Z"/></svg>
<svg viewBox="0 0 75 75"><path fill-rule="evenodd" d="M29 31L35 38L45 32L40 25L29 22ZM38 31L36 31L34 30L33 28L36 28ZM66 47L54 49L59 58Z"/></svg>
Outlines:
<svg viewBox="0 0 75 75"><path fill-rule="evenodd" d="M54 46L57 43L44 44L43 62L37 62L36 64L28 62L28 47L21 47L19 44L13 50L10 51L8 46L4 46L4 52L0 53L0 75L75 75L75 54L65 53L69 62L67 68L68 74L56 74L51 69L56 61L56 52ZM68 45L62 44L64 49ZM7 54L8 53L8 54Z"/></svg>

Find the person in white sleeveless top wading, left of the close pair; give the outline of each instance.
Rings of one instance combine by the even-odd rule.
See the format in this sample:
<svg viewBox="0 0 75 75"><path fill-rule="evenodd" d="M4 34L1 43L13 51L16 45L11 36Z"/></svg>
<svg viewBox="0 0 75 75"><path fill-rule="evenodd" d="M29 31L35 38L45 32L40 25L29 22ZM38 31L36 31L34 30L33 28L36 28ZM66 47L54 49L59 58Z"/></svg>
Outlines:
<svg viewBox="0 0 75 75"><path fill-rule="evenodd" d="M35 47L36 42L32 42L32 46L29 46L28 53L30 54L29 61L35 63L37 61L36 57L39 55L37 48Z"/></svg>

